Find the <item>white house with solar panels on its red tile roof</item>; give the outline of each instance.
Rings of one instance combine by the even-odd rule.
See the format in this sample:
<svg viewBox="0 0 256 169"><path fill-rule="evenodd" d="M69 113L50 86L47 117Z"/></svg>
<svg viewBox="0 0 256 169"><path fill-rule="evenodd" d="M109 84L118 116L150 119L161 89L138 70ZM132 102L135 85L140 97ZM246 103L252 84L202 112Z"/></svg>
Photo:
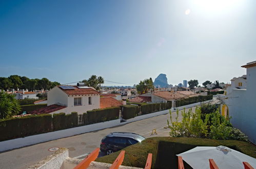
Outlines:
<svg viewBox="0 0 256 169"><path fill-rule="evenodd" d="M100 92L89 87L56 86L47 94L47 107L53 104L62 106L62 109L50 114L71 112L83 114L93 109L100 109Z"/></svg>

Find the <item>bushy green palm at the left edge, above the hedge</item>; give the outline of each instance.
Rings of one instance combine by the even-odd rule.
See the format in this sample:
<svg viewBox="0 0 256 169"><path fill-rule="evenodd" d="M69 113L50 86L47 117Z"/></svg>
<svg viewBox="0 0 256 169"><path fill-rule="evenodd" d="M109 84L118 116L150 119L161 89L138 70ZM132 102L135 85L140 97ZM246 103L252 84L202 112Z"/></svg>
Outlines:
<svg viewBox="0 0 256 169"><path fill-rule="evenodd" d="M14 97L13 94L0 92L0 119L12 117L21 111L21 107Z"/></svg>

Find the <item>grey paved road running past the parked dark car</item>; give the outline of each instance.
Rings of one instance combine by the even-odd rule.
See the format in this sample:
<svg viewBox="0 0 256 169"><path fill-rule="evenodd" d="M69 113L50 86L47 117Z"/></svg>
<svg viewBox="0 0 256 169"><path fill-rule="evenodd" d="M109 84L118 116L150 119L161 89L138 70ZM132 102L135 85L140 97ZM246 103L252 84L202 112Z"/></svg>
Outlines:
<svg viewBox="0 0 256 169"><path fill-rule="evenodd" d="M193 111L194 109L195 107L192 108ZM172 118L174 119L175 117L176 113L172 113ZM167 119L170 119L169 114L4 152L0 154L0 168L26 168L50 155L52 152L49 152L48 149L51 147L67 147L70 157L80 156L99 147L101 139L110 132L134 132L146 138L169 136L169 129L164 129L164 126L167 125ZM180 119L181 114L179 114ZM157 130L157 135L151 135L152 129Z"/></svg>

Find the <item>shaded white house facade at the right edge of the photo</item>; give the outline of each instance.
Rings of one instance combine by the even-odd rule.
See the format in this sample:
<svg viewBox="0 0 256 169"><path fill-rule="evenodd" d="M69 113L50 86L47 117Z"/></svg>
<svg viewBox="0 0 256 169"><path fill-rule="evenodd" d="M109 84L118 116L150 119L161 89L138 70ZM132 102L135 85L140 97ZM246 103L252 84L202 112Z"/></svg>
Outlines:
<svg viewBox="0 0 256 169"><path fill-rule="evenodd" d="M231 79L231 86L223 99L222 115L228 115L235 128L244 132L251 142L256 143L256 61L242 66L246 76ZM246 80L246 81L245 81Z"/></svg>

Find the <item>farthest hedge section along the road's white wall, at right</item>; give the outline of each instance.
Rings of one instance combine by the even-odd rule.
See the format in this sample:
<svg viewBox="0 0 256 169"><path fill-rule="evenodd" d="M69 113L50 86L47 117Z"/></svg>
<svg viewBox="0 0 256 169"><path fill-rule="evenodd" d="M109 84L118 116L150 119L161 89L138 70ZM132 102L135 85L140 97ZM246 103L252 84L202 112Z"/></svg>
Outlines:
<svg viewBox="0 0 256 169"><path fill-rule="evenodd" d="M185 99L176 100L175 105L176 105L176 107L181 107L181 106L187 105L187 104L193 104L193 103L200 102L200 101L211 100L212 97L213 97L212 95L189 97L189 98L185 98Z"/></svg>

